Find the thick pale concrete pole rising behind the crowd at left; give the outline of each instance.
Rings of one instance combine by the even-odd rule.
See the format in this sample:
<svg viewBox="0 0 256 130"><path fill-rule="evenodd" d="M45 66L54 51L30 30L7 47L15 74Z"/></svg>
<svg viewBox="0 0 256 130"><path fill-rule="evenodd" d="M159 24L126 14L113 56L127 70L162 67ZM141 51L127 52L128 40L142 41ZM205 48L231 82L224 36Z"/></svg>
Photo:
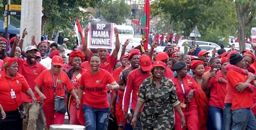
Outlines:
<svg viewBox="0 0 256 130"><path fill-rule="evenodd" d="M24 50L26 46L31 44L31 36L35 35L36 43L41 39L41 12L42 0L22 0L22 11L20 15L20 36L25 28L27 28L28 35L23 41Z"/></svg>

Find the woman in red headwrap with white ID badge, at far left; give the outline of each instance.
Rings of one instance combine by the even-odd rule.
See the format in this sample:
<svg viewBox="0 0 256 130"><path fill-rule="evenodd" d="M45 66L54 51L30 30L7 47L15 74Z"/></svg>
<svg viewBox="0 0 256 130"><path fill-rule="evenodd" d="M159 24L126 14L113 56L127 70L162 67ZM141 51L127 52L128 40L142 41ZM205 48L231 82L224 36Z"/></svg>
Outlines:
<svg viewBox="0 0 256 130"><path fill-rule="evenodd" d="M7 58L4 63L5 71L1 72L0 78L0 104L2 109L6 112L6 118L0 120L0 129L22 129L22 118L20 118L20 110L22 105L22 92L32 97L36 104L36 98L30 89L26 79L18 72L18 63L16 58ZM1 112L2 112L1 109ZM0 117L4 117L1 113Z"/></svg>

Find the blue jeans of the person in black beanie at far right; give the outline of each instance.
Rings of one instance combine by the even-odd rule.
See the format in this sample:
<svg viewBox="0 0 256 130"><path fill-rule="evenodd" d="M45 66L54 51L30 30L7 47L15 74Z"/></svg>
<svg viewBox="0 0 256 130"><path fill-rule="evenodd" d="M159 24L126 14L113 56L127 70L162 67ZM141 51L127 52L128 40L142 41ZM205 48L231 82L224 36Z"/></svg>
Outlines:
<svg viewBox="0 0 256 130"><path fill-rule="evenodd" d="M250 108L239 108L232 111L233 130L256 129L256 120Z"/></svg>

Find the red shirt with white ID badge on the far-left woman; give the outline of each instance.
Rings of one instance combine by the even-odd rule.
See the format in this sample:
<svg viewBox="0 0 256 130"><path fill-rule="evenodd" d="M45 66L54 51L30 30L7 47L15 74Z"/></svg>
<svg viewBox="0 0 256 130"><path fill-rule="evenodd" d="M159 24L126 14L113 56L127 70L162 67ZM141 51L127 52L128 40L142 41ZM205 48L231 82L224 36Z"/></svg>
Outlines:
<svg viewBox="0 0 256 130"><path fill-rule="evenodd" d="M6 75L6 71L2 71L1 76L2 77L0 78L0 104L6 112L17 110L17 108L20 107L20 105L22 104L21 93L26 92L27 89L29 89L28 83L24 76L20 75L19 73L17 73L16 76L12 79ZM9 80L11 87L9 86L7 79ZM11 98L11 88L15 92L16 101L15 99Z"/></svg>

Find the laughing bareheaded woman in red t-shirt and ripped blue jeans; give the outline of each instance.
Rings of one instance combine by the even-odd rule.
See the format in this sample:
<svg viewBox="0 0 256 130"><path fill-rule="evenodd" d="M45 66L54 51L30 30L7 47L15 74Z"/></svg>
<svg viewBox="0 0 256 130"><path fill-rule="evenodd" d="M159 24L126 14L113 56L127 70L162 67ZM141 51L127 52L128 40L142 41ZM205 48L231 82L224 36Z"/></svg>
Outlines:
<svg viewBox="0 0 256 130"><path fill-rule="evenodd" d="M108 89L119 89L113 76L100 68L100 63L100 56L93 54L90 59L90 71L85 71L80 79L78 94L81 99L85 92L82 105L86 129L108 129Z"/></svg>

